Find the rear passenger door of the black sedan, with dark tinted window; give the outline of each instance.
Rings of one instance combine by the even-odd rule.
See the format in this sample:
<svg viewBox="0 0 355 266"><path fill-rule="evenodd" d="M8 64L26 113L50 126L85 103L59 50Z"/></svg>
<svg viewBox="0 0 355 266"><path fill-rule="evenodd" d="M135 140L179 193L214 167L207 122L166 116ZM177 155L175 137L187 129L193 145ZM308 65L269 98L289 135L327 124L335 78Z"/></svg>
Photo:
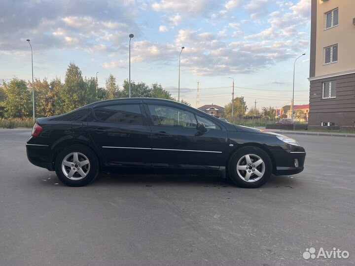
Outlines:
<svg viewBox="0 0 355 266"><path fill-rule="evenodd" d="M150 166L151 132L141 101L93 107L88 131L108 166Z"/></svg>

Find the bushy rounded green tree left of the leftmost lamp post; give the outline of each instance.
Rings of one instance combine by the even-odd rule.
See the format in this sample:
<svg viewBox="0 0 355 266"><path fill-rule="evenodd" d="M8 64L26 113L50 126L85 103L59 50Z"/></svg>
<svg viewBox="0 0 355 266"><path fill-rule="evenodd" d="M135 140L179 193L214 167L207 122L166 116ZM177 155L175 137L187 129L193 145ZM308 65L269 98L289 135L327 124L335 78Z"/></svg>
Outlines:
<svg viewBox="0 0 355 266"><path fill-rule="evenodd" d="M6 118L24 119L32 115L32 94L27 88L26 81L13 78L8 84L4 83L4 91Z"/></svg>

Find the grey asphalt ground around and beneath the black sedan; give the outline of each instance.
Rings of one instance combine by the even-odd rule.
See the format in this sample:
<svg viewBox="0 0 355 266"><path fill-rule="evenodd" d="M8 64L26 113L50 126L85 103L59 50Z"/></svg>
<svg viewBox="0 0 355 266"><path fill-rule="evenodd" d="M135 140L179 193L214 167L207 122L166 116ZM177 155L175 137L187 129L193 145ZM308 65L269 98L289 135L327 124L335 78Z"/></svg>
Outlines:
<svg viewBox="0 0 355 266"><path fill-rule="evenodd" d="M67 187L0 130L1 266L354 265L355 139L292 135L305 170L241 189L212 176L115 176ZM348 259L302 258L333 247Z"/></svg>

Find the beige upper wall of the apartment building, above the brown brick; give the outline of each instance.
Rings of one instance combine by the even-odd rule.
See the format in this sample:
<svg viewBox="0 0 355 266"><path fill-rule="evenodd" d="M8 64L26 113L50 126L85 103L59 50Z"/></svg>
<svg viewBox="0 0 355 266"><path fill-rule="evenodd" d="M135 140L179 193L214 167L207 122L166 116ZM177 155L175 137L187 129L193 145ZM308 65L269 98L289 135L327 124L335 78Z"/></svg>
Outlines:
<svg viewBox="0 0 355 266"><path fill-rule="evenodd" d="M355 71L355 0L317 0L316 77ZM324 14L339 8L339 25L327 30ZM324 47L338 44L338 62L324 65Z"/></svg>

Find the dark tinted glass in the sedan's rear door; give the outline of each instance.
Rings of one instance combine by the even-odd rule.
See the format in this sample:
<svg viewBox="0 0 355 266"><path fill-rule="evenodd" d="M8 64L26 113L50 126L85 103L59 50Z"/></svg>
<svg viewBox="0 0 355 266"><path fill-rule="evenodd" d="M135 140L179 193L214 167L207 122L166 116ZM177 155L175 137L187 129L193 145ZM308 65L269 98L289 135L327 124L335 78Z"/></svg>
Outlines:
<svg viewBox="0 0 355 266"><path fill-rule="evenodd" d="M94 108L95 117L106 123L143 124L139 104L117 104Z"/></svg>

